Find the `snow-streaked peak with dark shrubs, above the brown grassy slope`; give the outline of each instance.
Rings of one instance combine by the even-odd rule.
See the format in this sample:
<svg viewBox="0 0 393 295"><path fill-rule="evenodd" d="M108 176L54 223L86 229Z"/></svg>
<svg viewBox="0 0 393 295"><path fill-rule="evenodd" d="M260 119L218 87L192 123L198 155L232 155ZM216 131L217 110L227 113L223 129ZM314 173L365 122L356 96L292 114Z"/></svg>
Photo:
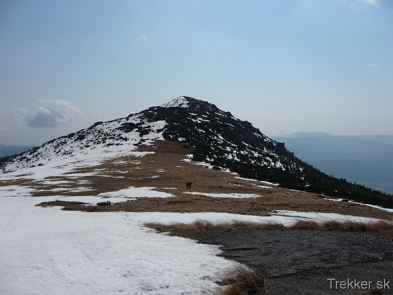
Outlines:
<svg viewBox="0 0 393 295"><path fill-rule="evenodd" d="M235 118L214 104L188 96L151 107L138 114L62 136L2 165L2 173L48 161L77 161L93 157L94 150L132 148L149 140L184 143L192 160L242 177L280 183L281 186L332 197L393 207L392 196L330 177L304 163L283 143L268 138L248 121Z"/></svg>

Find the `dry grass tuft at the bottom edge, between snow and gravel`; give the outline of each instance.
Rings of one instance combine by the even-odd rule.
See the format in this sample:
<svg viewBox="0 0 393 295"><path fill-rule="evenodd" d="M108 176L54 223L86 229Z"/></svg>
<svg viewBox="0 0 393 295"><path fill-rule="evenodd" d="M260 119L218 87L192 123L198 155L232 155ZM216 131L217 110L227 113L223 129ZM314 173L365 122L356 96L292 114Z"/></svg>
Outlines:
<svg viewBox="0 0 393 295"><path fill-rule="evenodd" d="M214 295L264 295L271 290L271 285L262 273L244 266L233 267L225 273L223 281L217 284L223 287Z"/></svg>

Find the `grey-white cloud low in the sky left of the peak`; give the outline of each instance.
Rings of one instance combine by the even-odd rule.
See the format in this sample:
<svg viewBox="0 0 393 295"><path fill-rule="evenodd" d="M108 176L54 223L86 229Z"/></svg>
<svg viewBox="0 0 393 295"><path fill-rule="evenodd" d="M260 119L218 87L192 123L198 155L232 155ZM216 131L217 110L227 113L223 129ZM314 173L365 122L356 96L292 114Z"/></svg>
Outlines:
<svg viewBox="0 0 393 295"><path fill-rule="evenodd" d="M81 111L71 102L63 99L38 100L36 112L29 112L26 108L16 109L15 117L28 123L31 127L55 128L81 115Z"/></svg>

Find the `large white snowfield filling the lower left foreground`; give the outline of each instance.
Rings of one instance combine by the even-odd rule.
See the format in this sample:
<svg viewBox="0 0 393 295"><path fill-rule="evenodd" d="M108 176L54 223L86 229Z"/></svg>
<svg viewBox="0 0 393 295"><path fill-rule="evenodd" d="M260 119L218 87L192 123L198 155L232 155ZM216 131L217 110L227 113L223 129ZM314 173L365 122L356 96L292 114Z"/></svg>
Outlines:
<svg viewBox="0 0 393 295"><path fill-rule="evenodd" d="M147 222L206 220L216 224L252 221L291 225L299 218L375 220L287 210L278 210L274 216L60 211L60 207L35 207L55 197L7 197L6 192L11 189L23 192L28 188L8 186L0 190L0 294L140 295L151 290L150 295L198 295L215 286L223 270L237 265L218 257L222 253L218 246L157 234L143 226ZM128 189L162 194L146 187ZM128 189L113 192L112 196L117 199L121 199L120 195L128 196ZM90 198L103 200L56 197L82 202Z"/></svg>

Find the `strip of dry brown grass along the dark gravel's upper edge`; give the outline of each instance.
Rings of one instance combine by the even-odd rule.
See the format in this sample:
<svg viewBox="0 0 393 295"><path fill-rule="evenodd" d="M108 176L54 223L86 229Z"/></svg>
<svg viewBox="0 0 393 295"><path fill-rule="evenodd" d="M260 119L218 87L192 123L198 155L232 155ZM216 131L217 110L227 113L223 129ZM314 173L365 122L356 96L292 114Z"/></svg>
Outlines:
<svg viewBox="0 0 393 295"><path fill-rule="evenodd" d="M393 238L393 223L379 222L356 222L356 221L326 221L318 223L313 220L299 220L293 225L285 226L279 222L255 223L255 222L227 222L214 224L208 221L196 221L192 224L175 223L159 224L146 223L146 227L155 229L159 233L170 232L171 236L182 236L202 240L205 233L240 232L250 230L308 230L308 231L340 231L352 233L365 233L385 238Z"/></svg>

